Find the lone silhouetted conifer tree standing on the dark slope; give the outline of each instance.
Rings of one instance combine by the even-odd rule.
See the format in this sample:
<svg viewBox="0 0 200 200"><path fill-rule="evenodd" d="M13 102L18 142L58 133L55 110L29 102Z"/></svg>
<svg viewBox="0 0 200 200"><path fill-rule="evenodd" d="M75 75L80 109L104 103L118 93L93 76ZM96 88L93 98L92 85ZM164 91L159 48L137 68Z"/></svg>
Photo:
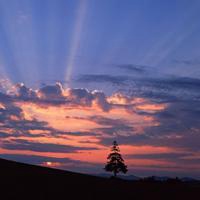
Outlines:
<svg viewBox="0 0 200 200"><path fill-rule="evenodd" d="M120 150L118 144L114 141L111 153L107 157L107 164L104 168L108 172L113 172L114 177L116 177L119 172L123 172L125 174L128 171L127 166L124 164L124 160L119 152Z"/></svg>

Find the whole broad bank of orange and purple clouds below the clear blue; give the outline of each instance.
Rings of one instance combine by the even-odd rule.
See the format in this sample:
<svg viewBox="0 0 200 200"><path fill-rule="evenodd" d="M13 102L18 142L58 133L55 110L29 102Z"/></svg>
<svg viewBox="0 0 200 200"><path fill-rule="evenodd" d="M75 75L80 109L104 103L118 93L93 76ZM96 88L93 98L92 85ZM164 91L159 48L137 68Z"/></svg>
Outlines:
<svg viewBox="0 0 200 200"><path fill-rule="evenodd" d="M96 81L95 76L91 78ZM97 82L110 81L120 90L108 96L86 88L65 89L57 83L37 90L17 84L14 92L1 92L1 150L9 154L31 151L40 156L65 153L68 159L80 160L80 165L91 169L105 161L105 148L117 139L122 149L173 149L173 155L167 151L137 156L133 151L133 157L127 157L131 166L135 160L143 162L143 167L145 160L151 160L152 166L157 160L173 162L177 167L184 162L194 168L199 165L198 159L193 158L200 146L199 79L114 75L98 78ZM125 156L130 154L129 150L123 151ZM62 160L49 162L61 164ZM70 166L74 165L72 161Z"/></svg>

